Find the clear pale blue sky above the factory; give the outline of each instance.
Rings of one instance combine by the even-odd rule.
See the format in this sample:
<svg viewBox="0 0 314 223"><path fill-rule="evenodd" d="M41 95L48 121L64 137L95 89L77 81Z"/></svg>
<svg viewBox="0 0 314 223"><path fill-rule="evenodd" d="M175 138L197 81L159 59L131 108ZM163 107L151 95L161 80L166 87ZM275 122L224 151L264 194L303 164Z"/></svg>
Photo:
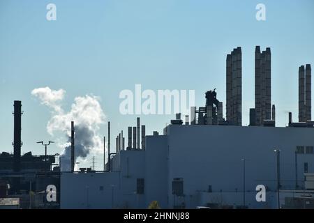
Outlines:
<svg viewBox="0 0 314 223"><path fill-rule="evenodd" d="M46 6L57 6L57 21ZM267 20L255 19L264 3ZM115 134L135 125L119 114L119 92L195 89L197 106L216 88L225 105L225 56L242 47L243 124L254 107L254 50L271 47L272 103L277 125L287 112L297 121L298 68L314 66L314 1L12 1L0 0L0 151L13 151L13 100L22 100L22 153L43 153L35 142L53 140L50 109L31 91L66 90L63 109L93 94ZM224 111L225 113L225 111ZM141 116L147 133L162 132L173 116ZM100 134L107 135L107 125ZM51 153L60 151L56 145ZM90 159L91 160L91 159ZM98 158L96 164L102 167Z"/></svg>

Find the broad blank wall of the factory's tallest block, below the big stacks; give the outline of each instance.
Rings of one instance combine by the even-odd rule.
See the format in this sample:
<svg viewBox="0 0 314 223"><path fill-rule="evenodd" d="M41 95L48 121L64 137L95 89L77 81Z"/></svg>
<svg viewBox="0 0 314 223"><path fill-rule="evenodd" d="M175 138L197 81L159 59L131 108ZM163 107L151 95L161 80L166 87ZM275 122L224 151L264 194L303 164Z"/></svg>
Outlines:
<svg viewBox="0 0 314 223"><path fill-rule="evenodd" d="M243 192L242 158L246 159L246 191L255 192L256 185L260 184L275 191L275 148L281 149L281 184L294 187L294 151L297 146L314 145L313 128L170 125L166 132L169 143L168 208L179 204L173 202L177 199L172 196L173 178L184 178L186 197L182 202L188 208L195 206L189 200L195 201L193 197L199 192L207 192L209 185L213 192L222 190L223 196L229 192ZM313 157L313 154L298 155L299 182L304 180L304 162L308 162L309 172L314 171ZM246 197L251 201L251 208L263 208L265 204L257 203L255 194L248 193ZM204 204L202 201L197 205Z"/></svg>

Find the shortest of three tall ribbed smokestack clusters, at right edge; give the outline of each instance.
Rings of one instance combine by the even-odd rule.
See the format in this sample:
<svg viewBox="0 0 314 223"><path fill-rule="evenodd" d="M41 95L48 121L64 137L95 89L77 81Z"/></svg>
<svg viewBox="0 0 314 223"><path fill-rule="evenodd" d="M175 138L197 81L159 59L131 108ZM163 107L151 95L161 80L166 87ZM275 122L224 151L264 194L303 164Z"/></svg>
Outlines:
<svg viewBox="0 0 314 223"><path fill-rule="evenodd" d="M311 121L311 65L299 67L299 122Z"/></svg>

